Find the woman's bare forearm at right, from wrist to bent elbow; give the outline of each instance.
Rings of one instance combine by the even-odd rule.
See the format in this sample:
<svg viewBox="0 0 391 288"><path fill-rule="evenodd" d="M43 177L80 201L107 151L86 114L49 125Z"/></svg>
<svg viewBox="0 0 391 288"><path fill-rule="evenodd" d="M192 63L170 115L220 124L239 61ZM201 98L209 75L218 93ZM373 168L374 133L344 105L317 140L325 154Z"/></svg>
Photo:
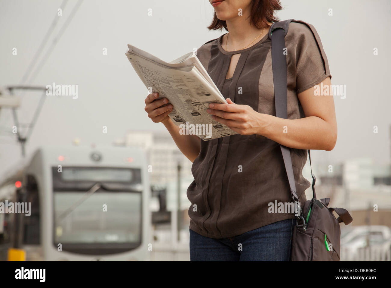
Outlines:
<svg viewBox="0 0 391 288"><path fill-rule="evenodd" d="M300 119L283 119L259 114L260 129L257 134L295 149L330 151L337 141L337 125L308 116Z"/></svg>

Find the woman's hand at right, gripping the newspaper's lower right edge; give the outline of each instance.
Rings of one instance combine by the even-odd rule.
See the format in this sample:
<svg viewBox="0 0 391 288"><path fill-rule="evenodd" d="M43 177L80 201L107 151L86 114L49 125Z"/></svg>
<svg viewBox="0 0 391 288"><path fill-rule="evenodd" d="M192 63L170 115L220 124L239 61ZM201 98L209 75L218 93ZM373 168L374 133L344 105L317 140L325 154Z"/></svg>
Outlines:
<svg viewBox="0 0 391 288"><path fill-rule="evenodd" d="M262 121L260 113L248 105L238 105L227 98L227 104L210 103L207 113L212 114L215 121L230 127L241 135L260 134Z"/></svg>

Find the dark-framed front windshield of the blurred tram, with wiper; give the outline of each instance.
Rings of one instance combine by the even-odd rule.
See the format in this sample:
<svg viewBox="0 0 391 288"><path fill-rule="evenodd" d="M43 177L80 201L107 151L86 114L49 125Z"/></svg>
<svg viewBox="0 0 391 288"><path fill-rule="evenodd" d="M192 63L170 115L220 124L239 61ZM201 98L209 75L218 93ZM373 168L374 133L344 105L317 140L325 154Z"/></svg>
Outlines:
<svg viewBox="0 0 391 288"><path fill-rule="evenodd" d="M53 167L54 245L113 254L141 244L140 169Z"/></svg>

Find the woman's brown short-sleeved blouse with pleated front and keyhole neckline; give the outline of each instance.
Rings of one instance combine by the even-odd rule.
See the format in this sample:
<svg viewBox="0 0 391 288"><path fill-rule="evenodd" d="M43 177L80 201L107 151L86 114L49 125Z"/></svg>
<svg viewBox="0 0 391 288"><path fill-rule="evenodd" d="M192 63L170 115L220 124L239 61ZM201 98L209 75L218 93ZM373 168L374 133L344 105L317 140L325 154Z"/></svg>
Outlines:
<svg viewBox="0 0 391 288"><path fill-rule="evenodd" d="M213 82L225 98L275 116L271 40L266 35L249 48L227 52L221 46L222 36L197 50L197 57ZM312 25L292 22L285 45L288 119L303 118L297 94L331 78L331 74L319 35ZM235 72L226 80L231 56L236 53L240 53L240 58ZM310 186L302 175L307 150L291 149L291 158L297 194L303 205L304 191ZM187 190L192 203L188 210L190 229L203 236L232 237L295 218L293 213L268 211L270 202L292 202L280 146L271 139L236 134L201 141L192 173L194 181Z"/></svg>

